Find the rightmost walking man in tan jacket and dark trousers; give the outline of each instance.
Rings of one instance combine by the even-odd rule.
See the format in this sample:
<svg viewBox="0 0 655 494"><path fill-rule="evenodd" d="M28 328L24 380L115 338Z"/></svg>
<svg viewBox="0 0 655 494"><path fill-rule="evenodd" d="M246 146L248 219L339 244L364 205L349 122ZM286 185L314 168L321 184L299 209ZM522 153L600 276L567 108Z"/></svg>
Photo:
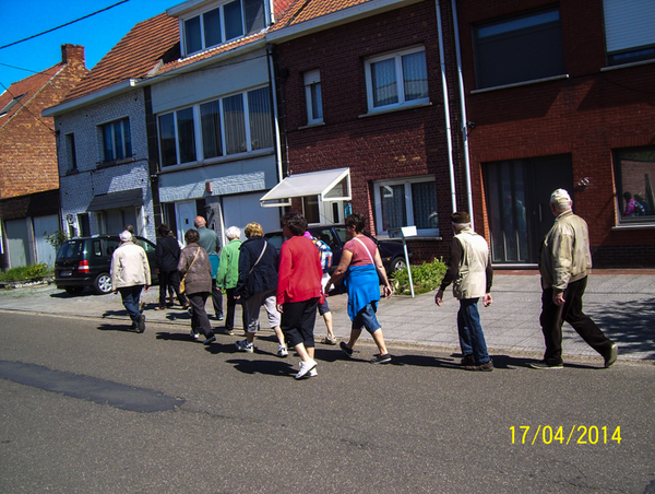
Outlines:
<svg viewBox="0 0 655 494"><path fill-rule="evenodd" d="M544 238L539 271L541 273L541 331L546 343L544 360L533 368L562 368L562 325L569 322L596 352L605 367L617 361L617 344L609 340L591 317L582 311L582 296L592 268L590 234L586 222L573 214L573 201L564 189L550 196L555 224Z"/></svg>

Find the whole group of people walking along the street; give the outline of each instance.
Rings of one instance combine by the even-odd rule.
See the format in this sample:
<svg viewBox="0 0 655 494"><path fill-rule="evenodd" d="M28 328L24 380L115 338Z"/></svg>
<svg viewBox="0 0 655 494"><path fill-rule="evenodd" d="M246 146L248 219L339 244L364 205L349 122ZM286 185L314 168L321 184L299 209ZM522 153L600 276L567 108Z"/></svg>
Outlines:
<svg viewBox="0 0 655 494"><path fill-rule="evenodd" d="M565 320L604 357L605 367L609 367L617 360L618 348L582 310L582 296L591 269L587 225L573 214L572 201L565 190L552 192L550 207L556 221L544 239L539 263L543 284L540 324L546 351L544 360L531 366L538 369L562 367L562 324ZM468 213L455 212L451 220L454 236L448 271L434 295L434 303L442 305L444 290L452 283L453 295L460 301L457 331L462 366L467 370L491 372L493 362L487 350L478 311L480 298L485 307L493 302L489 247L485 238L472 230ZM345 223L348 240L332 275L327 274L331 256L325 256L324 244L321 245L321 240L307 232L307 220L299 213L283 216L283 233L287 242L282 245L279 256L264 238L258 223L246 226L243 234L247 239L242 243L240 228L227 228L228 243L223 249L218 236L206 228L202 216L195 220L196 230L186 232L186 247L181 247L169 228L162 225L156 249L158 308L166 307L167 285L171 285L182 307L191 310L191 337L199 340L202 333L203 343L211 344L216 337L205 309L206 301L212 296L216 318L221 320L224 318L225 292L227 314L223 331L234 334L236 306L241 305L246 338L237 341L236 348L252 353L255 334L261 328L260 310L263 306L277 338L277 356L287 356L288 348L293 348L300 357L296 374L296 378L300 379L318 375L314 360L317 310L325 318L329 330L323 341L336 343L332 334L332 319L325 317L330 313L325 293L343 281L352 327L348 340L341 342L341 350L352 357L361 331L366 329L379 351L370 362L388 364L392 356L384 342L377 309L381 298L380 285L385 297L391 297L392 287L374 242L364 234L365 217L350 214ZM145 252L134 245L129 232L121 233L120 239L121 246L114 252L111 266L114 289L121 293L132 327L143 332L145 316L139 296L141 290L145 287L147 291L151 284L150 268Z"/></svg>

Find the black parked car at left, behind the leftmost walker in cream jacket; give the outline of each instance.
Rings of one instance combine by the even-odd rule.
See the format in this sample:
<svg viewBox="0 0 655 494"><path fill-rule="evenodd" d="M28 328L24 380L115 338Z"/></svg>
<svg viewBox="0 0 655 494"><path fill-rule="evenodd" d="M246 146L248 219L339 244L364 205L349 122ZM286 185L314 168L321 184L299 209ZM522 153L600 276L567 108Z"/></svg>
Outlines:
<svg viewBox="0 0 655 494"><path fill-rule="evenodd" d="M156 284L155 244L136 236L151 267L153 284ZM111 255L120 245L118 235L94 235L66 240L55 260L55 283L70 294L79 294L91 286L97 294L111 292Z"/></svg>

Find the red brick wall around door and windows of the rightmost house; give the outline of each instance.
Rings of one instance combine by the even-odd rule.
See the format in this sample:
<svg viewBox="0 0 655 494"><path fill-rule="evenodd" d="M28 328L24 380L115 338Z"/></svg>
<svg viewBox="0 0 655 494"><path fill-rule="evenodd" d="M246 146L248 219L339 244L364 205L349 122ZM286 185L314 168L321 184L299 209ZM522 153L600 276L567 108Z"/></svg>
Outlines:
<svg viewBox="0 0 655 494"><path fill-rule="evenodd" d="M655 63L604 70L602 0L559 3L568 79L476 90L472 25L550 5L544 0L461 0L463 73L477 230L489 236L485 167L503 160L568 155L577 188L574 210L590 224L596 267L655 267L655 228L615 228L618 210L612 151L655 144ZM484 225L484 230L483 226Z"/></svg>

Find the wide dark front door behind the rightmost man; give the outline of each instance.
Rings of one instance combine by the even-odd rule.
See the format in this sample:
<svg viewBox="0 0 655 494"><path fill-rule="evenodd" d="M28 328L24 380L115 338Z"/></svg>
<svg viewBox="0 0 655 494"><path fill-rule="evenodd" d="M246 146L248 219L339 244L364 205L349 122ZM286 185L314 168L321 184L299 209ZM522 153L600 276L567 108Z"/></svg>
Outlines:
<svg viewBox="0 0 655 494"><path fill-rule="evenodd" d="M571 156L513 160L485 165L491 259L498 264L536 264L539 246L552 226L550 195L573 197Z"/></svg>

